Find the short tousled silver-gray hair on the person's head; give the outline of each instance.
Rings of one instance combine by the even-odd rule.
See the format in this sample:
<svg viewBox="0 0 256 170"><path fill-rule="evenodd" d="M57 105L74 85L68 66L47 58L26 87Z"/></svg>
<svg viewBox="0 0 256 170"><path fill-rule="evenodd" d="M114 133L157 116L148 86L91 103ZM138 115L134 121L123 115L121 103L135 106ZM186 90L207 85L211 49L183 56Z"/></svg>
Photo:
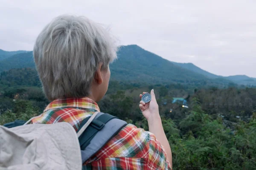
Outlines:
<svg viewBox="0 0 256 170"><path fill-rule="evenodd" d="M100 24L56 17L38 35L33 51L45 95L49 100L88 96L99 62L108 68L116 51L114 38Z"/></svg>

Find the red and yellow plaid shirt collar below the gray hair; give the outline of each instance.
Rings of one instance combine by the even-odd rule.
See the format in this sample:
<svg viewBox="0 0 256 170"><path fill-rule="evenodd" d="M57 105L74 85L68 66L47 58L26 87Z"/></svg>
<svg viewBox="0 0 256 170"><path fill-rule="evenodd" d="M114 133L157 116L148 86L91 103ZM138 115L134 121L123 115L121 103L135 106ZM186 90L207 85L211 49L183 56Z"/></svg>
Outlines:
<svg viewBox="0 0 256 170"><path fill-rule="evenodd" d="M44 112L57 108L84 108L84 109L93 109L95 111L99 111L99 106L96 102L88 97L83 98L69 98L69 99L56 99L47 105L44 109Z"/></svg>

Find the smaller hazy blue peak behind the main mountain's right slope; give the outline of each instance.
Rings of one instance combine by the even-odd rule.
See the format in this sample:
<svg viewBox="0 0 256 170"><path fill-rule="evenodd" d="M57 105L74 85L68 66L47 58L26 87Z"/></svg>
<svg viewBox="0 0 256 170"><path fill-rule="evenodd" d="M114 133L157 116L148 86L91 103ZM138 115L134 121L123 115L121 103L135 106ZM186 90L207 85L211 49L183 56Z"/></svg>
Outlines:
<svg viewBox="0 0 256 170"><path fill-rule="evenodd" d="M196 65L194 65L193 63L190 63L190 62L189 63L172 62L172 63L175 64L175 65L178 65L182 68L186 68L190 71L194 71L196 73L203 74L204 76L212 78L212 79L220 77L220 76L217 76L215 74L209 73L208 71L205 71L205 70L199 68L198 66L196 66Z"/></svg>

